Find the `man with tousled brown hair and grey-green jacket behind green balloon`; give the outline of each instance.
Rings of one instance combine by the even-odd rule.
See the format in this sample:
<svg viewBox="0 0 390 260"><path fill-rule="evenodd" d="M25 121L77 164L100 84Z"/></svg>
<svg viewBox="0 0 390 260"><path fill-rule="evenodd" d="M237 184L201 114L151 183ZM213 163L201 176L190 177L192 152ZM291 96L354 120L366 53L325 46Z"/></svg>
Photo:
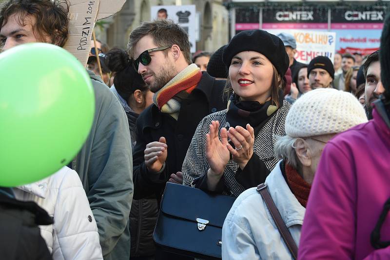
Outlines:
<svg viewBox="0 0 390 260"><path fill-rule="evenodd" d="M4 1L0 7L2 50L29 42L63 47L68 38L69 7L65 3L63 0ZM78 172L90 201L104 259L129 259L133 195L129 124L110 89L92 71L88 73L95 92L94 122L88 139L69 166Z"/></svg>

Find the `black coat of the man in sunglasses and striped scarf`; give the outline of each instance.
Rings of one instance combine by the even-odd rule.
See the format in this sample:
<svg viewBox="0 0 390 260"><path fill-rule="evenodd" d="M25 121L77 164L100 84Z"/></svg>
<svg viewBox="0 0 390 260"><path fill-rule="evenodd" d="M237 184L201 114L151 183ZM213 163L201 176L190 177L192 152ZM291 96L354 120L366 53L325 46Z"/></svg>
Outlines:
<svg viewBox="0 0 390 260"><path fill-rule="evenodd" d="M156 194L159 201L172 173L181 171L184 157L194 136L196 126L205 116L226 109L222 99L225 80L215 80L207 72L186 100L181 103L178 120L161 113L156 105L145 109L137 120L137 144L133 152L134 198ZM144 150L148 143L165 137L168 156L160 174L150 173L145 165Z"/></svg>

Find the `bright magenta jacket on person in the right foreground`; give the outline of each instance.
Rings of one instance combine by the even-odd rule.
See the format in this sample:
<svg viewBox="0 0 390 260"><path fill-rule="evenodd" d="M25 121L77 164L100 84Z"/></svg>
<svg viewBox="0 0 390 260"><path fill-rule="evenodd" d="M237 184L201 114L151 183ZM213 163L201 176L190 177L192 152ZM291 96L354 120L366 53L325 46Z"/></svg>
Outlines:
<svg viewBox="0 0 390 260"><path fill-rule="evenodd" d="M370 234L390 198L390 129L373 120L325 146L312 184L298 259L389 260L390 246L375 250ZM390 213L381 229L390 241Z"/></svg>

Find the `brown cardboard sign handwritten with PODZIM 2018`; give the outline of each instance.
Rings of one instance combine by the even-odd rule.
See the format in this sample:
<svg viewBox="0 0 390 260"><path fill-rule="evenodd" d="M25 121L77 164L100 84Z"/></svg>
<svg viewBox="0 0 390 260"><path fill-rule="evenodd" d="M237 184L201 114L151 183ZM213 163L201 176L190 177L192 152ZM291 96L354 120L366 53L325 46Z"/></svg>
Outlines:
<svg viewBox="0 0 390 260"><path fill-rule="evenodd" d="M69 34L64 49L87 65L92 32L97 20L110 17L122 8L126 0L70 0Z"/></svg>

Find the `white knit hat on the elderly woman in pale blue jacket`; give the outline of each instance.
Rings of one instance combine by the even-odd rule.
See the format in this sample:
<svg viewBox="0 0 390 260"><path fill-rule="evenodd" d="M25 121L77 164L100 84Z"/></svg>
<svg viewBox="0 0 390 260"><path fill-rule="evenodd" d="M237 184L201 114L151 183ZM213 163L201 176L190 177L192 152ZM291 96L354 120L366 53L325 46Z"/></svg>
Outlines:
<svg viewBox="0 0 390 260"><path fill-rule="evenodd" d="M294 102L285 129L290 137L310 137L337 134L364 122L363 106L351 93L319 88Z"/></svg>

